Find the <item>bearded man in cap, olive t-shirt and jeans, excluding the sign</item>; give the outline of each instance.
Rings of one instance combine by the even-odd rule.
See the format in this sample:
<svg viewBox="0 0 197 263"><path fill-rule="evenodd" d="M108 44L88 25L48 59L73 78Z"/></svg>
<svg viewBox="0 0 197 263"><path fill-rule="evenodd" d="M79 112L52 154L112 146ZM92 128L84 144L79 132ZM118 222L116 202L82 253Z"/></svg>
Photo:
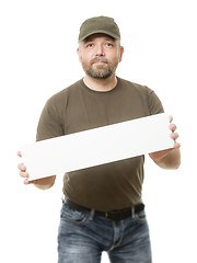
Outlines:
<svg viewBox="0 0 197 263"><path fill-rule="evenodd" d="M116 77L123 53L119 28L113 19L99 16L83 22L78 56L85 77L47 101L37 140L163 112L152 90ZM170 118L174 148L150 157L161 168L177 169L178 135ZM143 162L140 156L65 174L59 263L97 263L102 251L108 252L113 263L151 262L141 201ZM25 165L21 163L19 169L25 184L45 190L55 183L55 175L28 182Z"/></svg>

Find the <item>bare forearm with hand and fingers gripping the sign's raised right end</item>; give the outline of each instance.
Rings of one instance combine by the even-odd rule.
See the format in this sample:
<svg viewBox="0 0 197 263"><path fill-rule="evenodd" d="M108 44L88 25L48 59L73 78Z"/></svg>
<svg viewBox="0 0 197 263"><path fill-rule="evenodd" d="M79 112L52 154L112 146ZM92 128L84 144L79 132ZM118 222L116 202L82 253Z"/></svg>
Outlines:
<svg viewBox="0 0 197 263"><path fill-rule="evenodd" d="M177 169L181 164L181 145L176 142L178 134L174 133L176 130L176 125L172 124L172 121L173 117L170 116L170 129L172 130L171 138L174 139L174 147L172 149L149 153L150 158L163 169Z"/></svg>

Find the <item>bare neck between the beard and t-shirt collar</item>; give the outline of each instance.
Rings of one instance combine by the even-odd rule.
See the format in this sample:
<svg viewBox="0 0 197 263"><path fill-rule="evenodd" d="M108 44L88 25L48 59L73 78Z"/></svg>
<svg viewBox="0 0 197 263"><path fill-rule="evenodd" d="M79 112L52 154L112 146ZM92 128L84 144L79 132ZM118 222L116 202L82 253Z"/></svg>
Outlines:
<svg viewBox="0 0 197 263"><path fill-rule="evenodd" d="M113 90L116 87L117 78L115 75L113 75L107 79L94 79L85 75L83 82L91 90L106 92Z"/></svg>

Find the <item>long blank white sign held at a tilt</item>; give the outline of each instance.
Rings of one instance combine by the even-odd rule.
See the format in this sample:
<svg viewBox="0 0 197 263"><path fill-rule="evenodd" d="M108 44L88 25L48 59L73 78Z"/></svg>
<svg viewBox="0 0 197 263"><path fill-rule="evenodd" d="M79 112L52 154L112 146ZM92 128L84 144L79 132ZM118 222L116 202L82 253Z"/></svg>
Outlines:
<svg viewBox="0 0 197 263"><path fill-rule="evenodd" d="M30 181L172 148L167 114L157 114L25 145Z"/></svg>

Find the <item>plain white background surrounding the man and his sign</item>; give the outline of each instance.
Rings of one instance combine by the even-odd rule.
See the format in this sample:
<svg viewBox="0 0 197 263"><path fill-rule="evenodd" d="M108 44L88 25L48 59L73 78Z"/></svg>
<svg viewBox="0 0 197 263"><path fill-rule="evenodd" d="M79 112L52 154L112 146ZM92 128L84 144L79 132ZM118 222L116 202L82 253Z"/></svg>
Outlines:
<svg viewBox="0 0 197 263"><path fill-rule="evenodd" d="M197 19L192 0L1 1L1 262L57 262L62 175L48 191L24 186L16 152L35 140L46 100L83 77L76 53L79 27L101 14L115 18L121 31L125 54L117 76L153 89L178 127L178 170L161 170L146 158L143 199L153 262L197 262Z"/></svg>

